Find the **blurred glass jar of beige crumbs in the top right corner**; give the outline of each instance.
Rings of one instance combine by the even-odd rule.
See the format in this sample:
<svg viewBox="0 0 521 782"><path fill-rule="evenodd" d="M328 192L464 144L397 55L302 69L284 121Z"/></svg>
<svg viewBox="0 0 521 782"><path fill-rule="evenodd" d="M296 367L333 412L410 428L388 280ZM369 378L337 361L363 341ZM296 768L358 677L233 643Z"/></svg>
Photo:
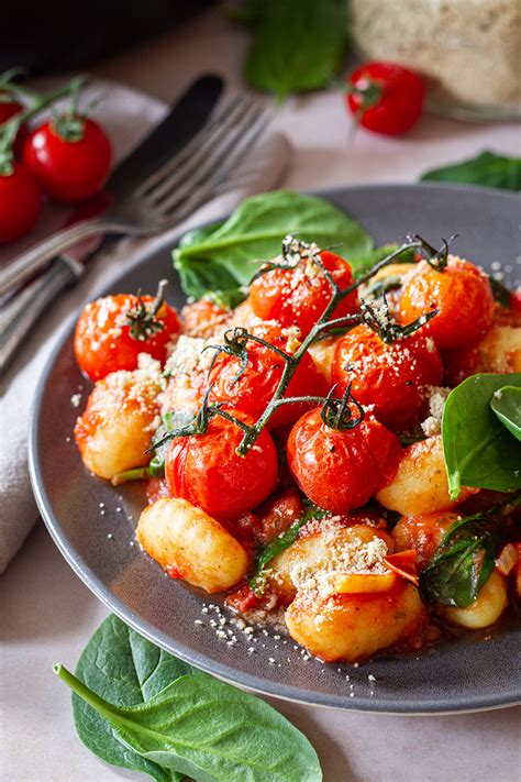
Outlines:
<svg viewBox="0 0 521 782"><path fill-rule="evenodd" d="M358 54L421 74L431 111L521 118L520 0L351 0L348 9Z"/></svg>

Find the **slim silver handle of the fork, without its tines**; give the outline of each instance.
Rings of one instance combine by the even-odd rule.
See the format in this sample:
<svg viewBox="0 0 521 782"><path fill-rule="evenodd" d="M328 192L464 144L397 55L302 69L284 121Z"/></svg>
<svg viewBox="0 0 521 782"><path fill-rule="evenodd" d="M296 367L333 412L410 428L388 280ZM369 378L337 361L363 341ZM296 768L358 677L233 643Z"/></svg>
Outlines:
<svg viewBox="0 0 521 782"><path fill-rule="evenodd" d="M52 233L51 236L15 257L0 272L0 297L25 283L35 272L46 266L55 255L60 255L84 239L101 233L125 233L126 231L129 231L128 228L115 222L109 223L98 217L74 223L64 230Z"/></svg>

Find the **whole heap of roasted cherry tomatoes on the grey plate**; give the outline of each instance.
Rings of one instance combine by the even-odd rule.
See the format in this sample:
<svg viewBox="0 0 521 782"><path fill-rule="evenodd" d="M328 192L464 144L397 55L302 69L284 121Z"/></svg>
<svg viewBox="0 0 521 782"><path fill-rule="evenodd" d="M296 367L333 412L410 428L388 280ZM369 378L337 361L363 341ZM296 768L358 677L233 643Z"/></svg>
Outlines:
<svg viewBox="0 0 521 782"><path fill-rule="evenodd" d="M398 320L385 302L380 308L358 305L351 267L340 256L322 252L318 273L307 267L309 262L309 255L301 255L291 267L266 271L235 312L201 305L196 311L188 308L187 319L180 320L159 290L155 299L99 299L87 306L76 328L78 363L97 381L134 370L142 352L164 363L173 337L185 331L207 338L219 316L224 335L208 343L214 353L206 368L199 353L186 371L168 367L163 409L188 409L193 417L191 428L168 445L165 482L155 483L151 496L160 492L188 500L253 548L299 516L299 491L319 507L347 517L387 486L402 456L398 436L410 433L428 415L428 392L442 385L446 356L457 350L466 355L495 318L487 276L457 257L417 261L397 294ZM347 291L331 312L332 285L324 285L330 278L337 291ZM331 319L354 315L358 321L326 338L332 342L330 382L312 357L323 352L298 355L299 327L309 333L326 310ZM234 323L240 311L243 317L251 312L247 329ZM296 355L291 377L279 389ZM263 420L277 392L281 404L248 443L244 438ZM274 511L274 498L284 511Z"/></svg>

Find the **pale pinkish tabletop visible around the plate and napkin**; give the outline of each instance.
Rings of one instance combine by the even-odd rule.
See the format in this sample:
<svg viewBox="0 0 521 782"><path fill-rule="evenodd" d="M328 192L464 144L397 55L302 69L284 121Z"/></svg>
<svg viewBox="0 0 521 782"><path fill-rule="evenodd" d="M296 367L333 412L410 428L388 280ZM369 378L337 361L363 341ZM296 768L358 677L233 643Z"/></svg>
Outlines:
<svg viewBox="0 0 521 782"><path fill-rule="evenodd" d="M224 74L232 87L241 86L246 44L242 31L212 11L182 31L102 63L95 70L102 78L169 101L195 76L209 70ZM131 122L130 117L120 122L123 135L118 137L123 140ZM342 97L334 92L289 99L275 128L282 130L292 145L284 185L300 190L414 181L426 168L484 148L520 154L521 147L514 125L470 125L437 118L424 119L404 139L359 132L347 145L350 122ZM59 307L57 311L63 311ZM43 323L43 328L48 327ZM27 387L36 381L36 374L27 371ZM74 733L69 695L54 676L52 663L59 660L74 667L107 612L62 559L41 522L1 576L0 585L1 778L11 782L137 779L101 763ZM520 779L518 708L393 717L271 703L312 740L326 782Z"/></svg>

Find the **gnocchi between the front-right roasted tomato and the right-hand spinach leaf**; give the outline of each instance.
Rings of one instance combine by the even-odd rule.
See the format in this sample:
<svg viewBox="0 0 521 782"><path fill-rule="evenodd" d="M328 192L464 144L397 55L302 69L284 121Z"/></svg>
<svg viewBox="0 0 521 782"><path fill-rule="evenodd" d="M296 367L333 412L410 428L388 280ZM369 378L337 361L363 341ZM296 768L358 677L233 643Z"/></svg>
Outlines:
<svg viewBox="0 0 521 782"><path fill-rule="evenodd" d="M391 483L375 497L385 508L402 516L421 516L450 510L475 492L464 486L457 500L451 499L442 436L436 434L404 449Z"/></svg>

